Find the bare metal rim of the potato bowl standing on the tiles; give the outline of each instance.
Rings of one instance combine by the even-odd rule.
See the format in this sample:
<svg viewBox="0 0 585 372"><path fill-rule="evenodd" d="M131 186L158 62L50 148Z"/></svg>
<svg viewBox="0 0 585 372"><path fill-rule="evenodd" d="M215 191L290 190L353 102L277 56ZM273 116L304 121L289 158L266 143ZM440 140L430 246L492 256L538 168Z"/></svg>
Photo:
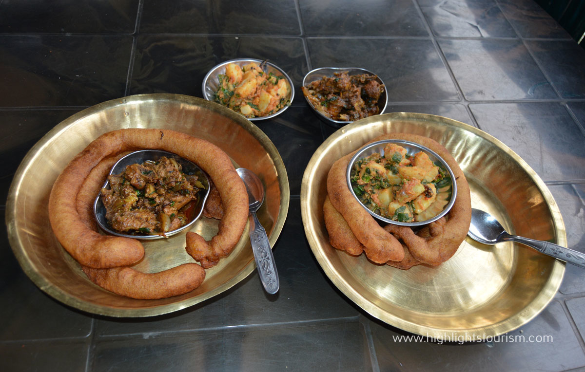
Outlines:
<svg viewBox="0 0 585 372"><path fill-rule="evenodd" d="M249 64L250 62L256 62L257 64L261 64L262 60L256 60L254 58L236 58L235 60L229 60L216 65L214 68L210 69L205 78L203 78L203 83L201 84L201 91L203 92L203 98L207 99L208 101L214 102L214 95L215 92L218 90L219 86L219 75L225 74L225 67L230 63L235 63L240 67ZM271 64L270 62L266 62L266 69L267 72L272 72L274 75L282 76L288 81L288 85L291 87L291 94L289 102L292 103L292 99L294 99L294 86L292 85L292 80L288 77L287 73L284 72L280 67L277 65ZM284 106L282 109L278 110L277 112L267 115L267 116L260 116L260 117L246 117L247 120L255 121L255 120L264 120L270 119L271 117L275 117L280 115L284 112L284 110L288 109L288 106Z"/></svg>

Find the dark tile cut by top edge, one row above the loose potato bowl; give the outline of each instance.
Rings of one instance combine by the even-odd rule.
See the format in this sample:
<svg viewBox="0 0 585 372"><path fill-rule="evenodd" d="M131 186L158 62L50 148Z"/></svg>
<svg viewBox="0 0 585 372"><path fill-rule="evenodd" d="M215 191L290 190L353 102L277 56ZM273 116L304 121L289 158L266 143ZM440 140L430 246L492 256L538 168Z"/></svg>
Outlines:
<svg viewBox="0 0 585 372"><path fill-rule="evenodd" d="M226 33L299 35L293 0L146 1L142 33Z"/></svg>

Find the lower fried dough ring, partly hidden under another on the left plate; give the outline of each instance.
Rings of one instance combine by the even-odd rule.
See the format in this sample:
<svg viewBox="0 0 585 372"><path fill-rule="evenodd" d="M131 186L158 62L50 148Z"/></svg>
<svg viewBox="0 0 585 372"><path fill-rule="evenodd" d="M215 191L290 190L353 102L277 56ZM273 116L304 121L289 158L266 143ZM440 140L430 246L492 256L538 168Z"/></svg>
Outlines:
<svg viewBox="0 0 585 372"><path fill-rule="evenodd" d="M126 153L99 162L77 194L77 211L80 218L96 232L99 230L93 213L95 196L99 193L109 170L124 155ZM81 269L98 286L139 300L157 300L188 293L199 287L205 279L205 270L197 263L184 263L158 273L143 273L132 267L92 269L82 265Z"/></svg>

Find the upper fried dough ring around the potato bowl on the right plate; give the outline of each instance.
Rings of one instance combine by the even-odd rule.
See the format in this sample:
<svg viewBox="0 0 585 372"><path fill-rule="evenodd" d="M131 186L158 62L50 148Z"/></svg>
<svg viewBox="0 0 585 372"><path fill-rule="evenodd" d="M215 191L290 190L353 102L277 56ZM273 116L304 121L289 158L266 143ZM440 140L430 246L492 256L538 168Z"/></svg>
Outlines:
<svg viewBox="0 0 585 372"><path fill-rule="evenodd" d="M362 244L366 245L366 242L371 241L377 242L380 236L383 237L382 241L386 241L389 239L388 237L392 237L395 240L396 238L401 239L402 243L398 242L398 240L397 242L403 247L402 251L404 252L404 256L400 260L388 260L388 265L400 267L401 269L408 269L412 266L419 265L419 263L427 263L433 266L440 265L455 254L469 230L469 224L471 222L471 197L465 175L449 151L438 142L431 140L431 138L409 133L390 133L381 135L369 143L389 139L407 140L424 145L435 151L450 166L455 175L457 197L453 207L447 214L448 218L443 217L435 222L431 222L417 233L409 227L387 225L382 229L387 236L381 235L379 230L376 229L376 225L378 225L376 220L360 206L350 193L349 187L346 186L345 171L349 159L355 152L339 159L329 171L327 180L329 198L333 206L342 213L350 230ZM332 175L332 173L334 174ZM333 182L338 182L338 184L334 184ZM339 207L333 203L333 198L331 198L332 192L336 193L336 201ZM353 227L350 222L353 222ZM328 232L330 235L337 234L335 231L328 230ZM333 239L335 240L335 238ZM366 255L370 258L367 248Z"/></svg>

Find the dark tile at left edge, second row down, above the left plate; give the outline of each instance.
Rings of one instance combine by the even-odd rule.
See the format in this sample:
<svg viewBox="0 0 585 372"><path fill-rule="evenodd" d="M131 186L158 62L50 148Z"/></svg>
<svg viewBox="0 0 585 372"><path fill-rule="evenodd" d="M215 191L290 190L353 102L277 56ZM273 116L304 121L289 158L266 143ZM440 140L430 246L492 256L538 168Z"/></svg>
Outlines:
<svg viewBox="0 0 585 372"><path fill-rule="evenodd" d="M124 96L130 36L0 36L2 106L91 106Z"/></svg>

